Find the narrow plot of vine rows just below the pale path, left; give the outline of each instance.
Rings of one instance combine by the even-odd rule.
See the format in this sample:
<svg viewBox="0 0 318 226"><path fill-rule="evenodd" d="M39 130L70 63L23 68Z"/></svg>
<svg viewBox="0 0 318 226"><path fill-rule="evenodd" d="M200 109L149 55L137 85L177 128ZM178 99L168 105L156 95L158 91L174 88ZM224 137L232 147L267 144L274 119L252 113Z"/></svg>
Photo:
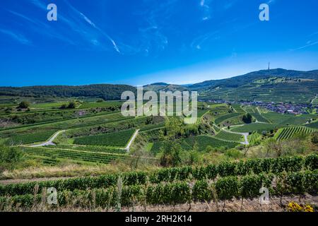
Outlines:
<svg viewBox="0 0 318 226"><path fill-rule="evenodd" d="M69 160L86 161L86 162L101 162L110 163L113 160L123 159L129 155L115 153L94 153L79 150L66 150L58 148L23 148L28 155L39 155L51 158L64 158Z"/></svg>

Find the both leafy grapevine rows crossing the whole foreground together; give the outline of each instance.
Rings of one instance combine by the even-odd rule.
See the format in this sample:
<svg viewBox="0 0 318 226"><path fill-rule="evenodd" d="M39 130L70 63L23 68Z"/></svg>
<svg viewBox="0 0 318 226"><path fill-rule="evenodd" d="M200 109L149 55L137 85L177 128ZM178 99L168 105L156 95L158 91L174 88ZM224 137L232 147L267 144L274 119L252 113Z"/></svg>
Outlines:
<svg viewBox="0 0 318 226"><path fill-rule="evenodd" d="M122 181L120 198L116 189L119 177ZM274 178L276 186L272 183ZM212 201L213 193L221 201L233 197L256 198L261 186L269 188L271 196L316 195L317 179L317 155L251 159L203 167L8 184L0 186L0 206L9 202L32 207L35 201L41 200L41 195L35 194L35 186L38 191L47 187L56 188L61 206L67 206L70 201L81 197L81 202L78 202L80 206L90 207L94 203L108 208L118 202L122 206L131 206L144 201L153 205Z"/></svg>

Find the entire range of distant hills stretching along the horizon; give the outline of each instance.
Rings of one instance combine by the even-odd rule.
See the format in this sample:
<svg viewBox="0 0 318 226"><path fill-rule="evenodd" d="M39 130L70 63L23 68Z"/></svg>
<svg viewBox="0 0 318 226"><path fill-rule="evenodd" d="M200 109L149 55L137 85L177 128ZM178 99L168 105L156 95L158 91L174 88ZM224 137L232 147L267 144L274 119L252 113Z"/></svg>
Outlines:
<svg viewBox="0 0 318 226"><path fill-rule="evenodd" d="M175 85L152 83L144 90L197 91L200 100L263 101L310 103L318 95L318 70L293 71L271 69L253 71L242 76L201 83ZM136 87L131 85L39 85L28 87L0 87L0 95L100 97L105 100L120 100L122 92Z"/></svg>

